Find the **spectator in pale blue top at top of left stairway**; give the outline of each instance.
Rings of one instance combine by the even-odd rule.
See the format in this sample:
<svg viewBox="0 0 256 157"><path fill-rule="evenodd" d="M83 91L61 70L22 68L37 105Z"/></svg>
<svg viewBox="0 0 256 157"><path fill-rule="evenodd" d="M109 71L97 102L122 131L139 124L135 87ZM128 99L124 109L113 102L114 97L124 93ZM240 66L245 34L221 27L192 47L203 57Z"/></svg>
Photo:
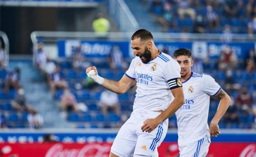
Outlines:
<svg viewBox="0 0 256 157"><path fill-rule="evenodd" d="M36 64L37 67L41 70L45 67L46 64L47 53L43 50L43 43L37 44L36 51Z"/></svg>

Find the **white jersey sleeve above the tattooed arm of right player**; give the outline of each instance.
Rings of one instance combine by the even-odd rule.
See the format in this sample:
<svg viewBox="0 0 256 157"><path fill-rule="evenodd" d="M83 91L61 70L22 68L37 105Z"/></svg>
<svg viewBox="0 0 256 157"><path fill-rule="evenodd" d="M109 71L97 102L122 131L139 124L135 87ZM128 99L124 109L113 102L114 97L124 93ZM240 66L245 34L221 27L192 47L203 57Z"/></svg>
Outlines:
<svg viewBox="0 0 256 157"><path fill-rule="evenodd" d="M219 93L221 87L210 75L203 75L203 92L215 96Z"/></svg>

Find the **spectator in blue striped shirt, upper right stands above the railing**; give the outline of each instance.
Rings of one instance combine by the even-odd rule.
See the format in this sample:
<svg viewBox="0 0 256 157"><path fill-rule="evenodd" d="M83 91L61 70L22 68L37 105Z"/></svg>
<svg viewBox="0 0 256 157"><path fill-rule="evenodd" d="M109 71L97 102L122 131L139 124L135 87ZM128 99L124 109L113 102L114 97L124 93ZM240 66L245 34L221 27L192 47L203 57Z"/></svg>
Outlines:
<svg viewBox="0 0 256 157"><path fill-rule="evenodd" d="M213 11L213 7L211 5L207 6L206 17L207 17L210 29L213 29L219 26L219 16L215 11Z"/></svg>

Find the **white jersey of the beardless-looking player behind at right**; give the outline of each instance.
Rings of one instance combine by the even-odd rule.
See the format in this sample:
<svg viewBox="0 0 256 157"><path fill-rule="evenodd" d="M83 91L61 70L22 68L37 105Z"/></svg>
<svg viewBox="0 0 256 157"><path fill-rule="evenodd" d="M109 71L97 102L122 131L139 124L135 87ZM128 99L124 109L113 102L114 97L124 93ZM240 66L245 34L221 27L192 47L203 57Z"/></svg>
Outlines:
<svg viewBox="0 0 256 157"><path fill-rule="evenodd" d="M176 111L178 125L178 145L183 146L207 136L210 141L207 124L210 95L215 96L221 87L210 75L191 73L183 82L185 104Z"/></svg>

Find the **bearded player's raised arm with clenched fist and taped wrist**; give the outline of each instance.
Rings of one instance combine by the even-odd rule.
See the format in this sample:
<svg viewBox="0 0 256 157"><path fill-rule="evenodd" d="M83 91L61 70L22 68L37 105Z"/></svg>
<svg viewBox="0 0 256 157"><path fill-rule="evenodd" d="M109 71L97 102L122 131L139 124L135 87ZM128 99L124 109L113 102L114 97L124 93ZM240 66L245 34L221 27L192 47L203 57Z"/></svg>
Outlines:
<svg viewBox="0 0 256 157"><path fill-rule="evenodd" d="M98 76L98 72L95 66L87 68L86 73L88 77L90 77L92 80L94 80L98 84L101 84L101 86L103 86L104 88L117 94L125 93L136 82L135 80L127 77L126 75L123 75L123 77L119 81L107 80L103 77Z"/></svg>

